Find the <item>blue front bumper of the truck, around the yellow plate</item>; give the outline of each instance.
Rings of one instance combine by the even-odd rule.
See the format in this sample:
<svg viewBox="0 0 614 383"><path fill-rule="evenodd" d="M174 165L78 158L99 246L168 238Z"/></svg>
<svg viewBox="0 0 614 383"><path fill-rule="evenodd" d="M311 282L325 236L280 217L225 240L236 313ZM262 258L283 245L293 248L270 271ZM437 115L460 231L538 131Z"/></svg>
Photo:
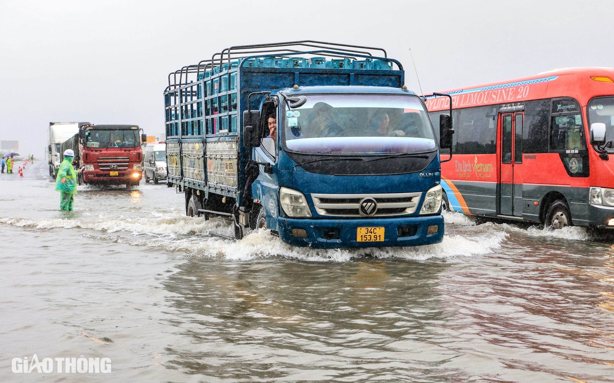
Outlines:
<svg viewBox="0 0 614 383"><path fill-rule="evenodd" d="M427 234L429 226L437 233ZM357 242L359 227L384 227L384 241ZM382 219L278 218L279 238L287 244L315 249L352 247L421 246L443 241L443 216ZM434 228L431 228L433 230ZM305 231L303 231L305 230ZM305 236L307 238L299 238Z"/></svg>

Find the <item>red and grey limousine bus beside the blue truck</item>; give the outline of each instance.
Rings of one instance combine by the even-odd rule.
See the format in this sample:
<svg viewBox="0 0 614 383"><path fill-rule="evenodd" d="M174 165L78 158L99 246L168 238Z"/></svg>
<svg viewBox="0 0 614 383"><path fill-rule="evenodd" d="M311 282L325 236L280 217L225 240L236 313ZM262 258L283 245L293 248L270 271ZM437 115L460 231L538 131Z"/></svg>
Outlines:
<svg viewBox="0 0 614 383"><path fill-rule="evenodd" d="M455 130L441 164L445 207L614 228L613 80L614 68L566 68L440 92ZM427 97L433 122L449 103Z"/></svg>

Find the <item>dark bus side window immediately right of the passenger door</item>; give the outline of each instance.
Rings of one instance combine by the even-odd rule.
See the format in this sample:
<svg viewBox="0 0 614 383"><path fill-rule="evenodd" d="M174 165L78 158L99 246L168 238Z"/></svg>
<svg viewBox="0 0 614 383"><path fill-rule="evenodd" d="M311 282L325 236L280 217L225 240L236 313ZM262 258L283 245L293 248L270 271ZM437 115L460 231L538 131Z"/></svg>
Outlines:
<svg viewBox="0 0 614 383"><path fill-rule="evenodd" d="M550 99L525 101L523 153L548 153Z"/></svg>

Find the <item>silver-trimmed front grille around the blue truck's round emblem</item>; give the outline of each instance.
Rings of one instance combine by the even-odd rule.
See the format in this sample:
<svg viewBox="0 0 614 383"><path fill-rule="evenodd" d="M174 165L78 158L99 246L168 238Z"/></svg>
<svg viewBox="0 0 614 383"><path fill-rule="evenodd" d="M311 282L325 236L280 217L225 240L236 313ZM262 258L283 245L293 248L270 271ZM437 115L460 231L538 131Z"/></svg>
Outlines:
<svg viewBox="0 0 614 383"><path fill-rule="evenodd" d="M378 210L372 217L412 214L418 207L422 193L387 194L312 194L317 214L335 217L362 217L359 204L363 198L371 197L378 203Z"/></svg>

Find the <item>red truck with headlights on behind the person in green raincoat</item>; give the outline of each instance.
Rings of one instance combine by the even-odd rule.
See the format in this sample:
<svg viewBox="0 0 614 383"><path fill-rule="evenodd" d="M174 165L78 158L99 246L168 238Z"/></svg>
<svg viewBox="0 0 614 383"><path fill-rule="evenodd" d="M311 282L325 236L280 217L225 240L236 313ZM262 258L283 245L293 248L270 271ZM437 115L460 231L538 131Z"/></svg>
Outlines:
<svg viewBox="0 0 614 383"><path fill-rule="evenodd" d="M61 150L76 153L75 165L83 170L79 184L136 186L142 178L141 142L147 140L141 132L138 125L84 125Z"/></svg>

